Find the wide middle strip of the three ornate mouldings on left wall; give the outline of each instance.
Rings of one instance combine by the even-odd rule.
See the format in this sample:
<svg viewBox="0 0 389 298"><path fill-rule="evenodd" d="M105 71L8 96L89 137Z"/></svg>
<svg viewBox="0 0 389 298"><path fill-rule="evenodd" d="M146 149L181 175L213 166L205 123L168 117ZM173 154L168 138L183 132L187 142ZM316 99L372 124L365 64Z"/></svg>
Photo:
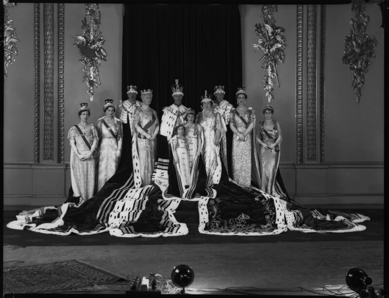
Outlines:
<svg viewBox="0 0 389 298"><path fill-rule="evenodd" d="M43 121L43 160L54 159L54 4L44 5L44 121Z"/></svg>

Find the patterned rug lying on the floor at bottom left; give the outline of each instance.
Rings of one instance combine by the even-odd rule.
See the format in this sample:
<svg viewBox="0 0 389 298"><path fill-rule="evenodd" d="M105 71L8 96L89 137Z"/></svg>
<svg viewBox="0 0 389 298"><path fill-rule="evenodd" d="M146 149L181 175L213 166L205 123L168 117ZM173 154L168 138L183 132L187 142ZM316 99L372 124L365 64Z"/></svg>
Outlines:
<svg viewBox="0 0 389 298"><path fill-rule="evenodd" d="M77 260L3 269L6 293L57 293L74 288L123 280Z"/></svg>

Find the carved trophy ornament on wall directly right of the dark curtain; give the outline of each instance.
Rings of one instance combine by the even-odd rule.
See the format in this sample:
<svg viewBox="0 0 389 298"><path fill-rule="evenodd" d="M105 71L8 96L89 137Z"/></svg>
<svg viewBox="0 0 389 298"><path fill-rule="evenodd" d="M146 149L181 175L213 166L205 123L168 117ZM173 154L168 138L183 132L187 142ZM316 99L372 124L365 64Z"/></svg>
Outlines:
<svg viewBox="0 0 389 298"><path fill-rule="evenodd" d="M277 10L277 5L262 5L264 25L262 26L260 23L255 24L255 33L258 36L258 42L252 44L254 51L261 50L264 52L259 62L264 61L261 66L265 70L265 76L262 82L269 102L274 100L272 94L274 91L273 79L277 80L277 85L280 87L277 75L278 61L283 63L285 60L285 55L283 54L283 49L285 48L284 29L282 27L276 27L276 20L273 17L273 13ZM262 31L262 28L265 29L265 33Z"/></svg>

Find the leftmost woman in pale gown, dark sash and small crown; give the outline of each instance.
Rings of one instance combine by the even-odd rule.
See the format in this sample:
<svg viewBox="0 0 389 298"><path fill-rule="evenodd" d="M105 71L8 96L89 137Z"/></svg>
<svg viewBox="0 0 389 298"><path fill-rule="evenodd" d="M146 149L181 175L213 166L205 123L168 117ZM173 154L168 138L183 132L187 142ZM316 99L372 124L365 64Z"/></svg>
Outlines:
<svg viewBox="0 0 389 298"><path fill-rule="evenodd" d="M97 130L88 123L90 109L87 103L80 104L78 116L80 122L68 132L71 146L70 169L73 197L80 197L81 205L94 195L95 160L93 153L97 147ZM85 138L85 139L84 139Z"/></svg>

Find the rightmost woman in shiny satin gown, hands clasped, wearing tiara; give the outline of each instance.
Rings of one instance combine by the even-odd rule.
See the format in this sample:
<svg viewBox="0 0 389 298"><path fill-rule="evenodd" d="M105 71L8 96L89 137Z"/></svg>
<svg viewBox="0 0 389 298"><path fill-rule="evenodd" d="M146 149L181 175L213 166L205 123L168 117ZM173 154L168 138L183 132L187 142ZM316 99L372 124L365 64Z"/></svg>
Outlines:
<svg viewBox="0 0 389 298"><path fill-rule="evenodd" d="M258 157L261 164L261 189L275 195L274 181L280 163L281 126L273 120L274 109L267 105L263 111L265 120L258 123L256 141L259 147Z"/></svg>

